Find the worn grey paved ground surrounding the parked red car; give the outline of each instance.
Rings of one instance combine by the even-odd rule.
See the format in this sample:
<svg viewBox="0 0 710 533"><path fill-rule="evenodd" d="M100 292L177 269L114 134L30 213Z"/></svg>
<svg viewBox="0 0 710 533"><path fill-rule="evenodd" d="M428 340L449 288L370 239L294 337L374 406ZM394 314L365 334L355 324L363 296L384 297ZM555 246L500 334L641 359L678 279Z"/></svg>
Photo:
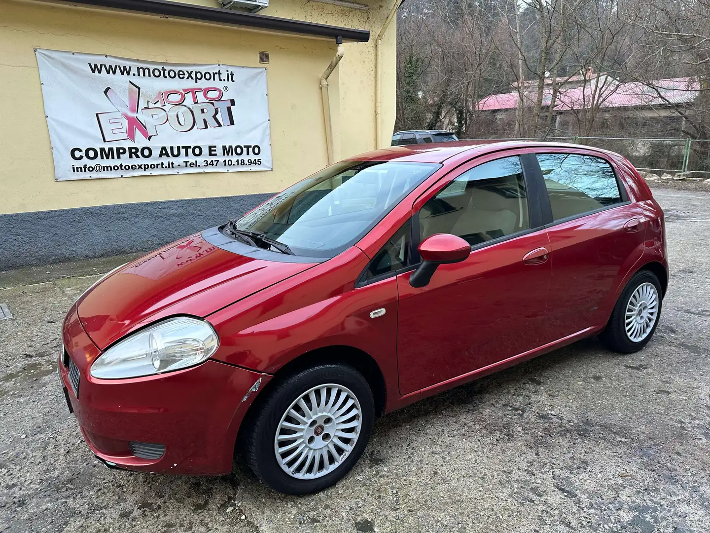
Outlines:
<svg viewBox="0 0 710 533"><path fill-rule="evenodd" d="M0 274L14 315L0 321L0 531L709 532L710 194L656 194L672 276L645 350L586 340L384 416L354 471L308 497L239 465L171 478L97 463L53 373L59 328L96 279L76 276L125 259Z"/></svg>

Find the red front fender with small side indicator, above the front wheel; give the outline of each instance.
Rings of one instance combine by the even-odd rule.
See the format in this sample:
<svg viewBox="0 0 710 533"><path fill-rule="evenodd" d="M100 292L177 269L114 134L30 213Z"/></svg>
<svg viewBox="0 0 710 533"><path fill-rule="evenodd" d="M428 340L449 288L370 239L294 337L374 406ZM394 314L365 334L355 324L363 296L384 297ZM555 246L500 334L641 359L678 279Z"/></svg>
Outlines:
<svg viewBox="0 0 710 533"><path fill-rule="evenodd" d="M307 352L348 346L375 360L388 402L398 398L397 281L392 276L355 288L367 262L354 247L306 276L293 276L208 316L220 340L213 358L273 375ZM371 318L380 308L385 313Z"/></svg>

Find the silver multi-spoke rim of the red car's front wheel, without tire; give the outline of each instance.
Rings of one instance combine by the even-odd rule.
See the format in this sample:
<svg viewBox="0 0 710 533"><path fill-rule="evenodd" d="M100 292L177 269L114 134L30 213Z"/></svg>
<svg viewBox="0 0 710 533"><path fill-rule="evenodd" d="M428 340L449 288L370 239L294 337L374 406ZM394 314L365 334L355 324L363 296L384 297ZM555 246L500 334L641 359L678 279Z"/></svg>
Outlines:
<svg viewBox="0 0 710 533"><path fill-rule="evenodd" d="M293 478L332 472L355 447L362 427L360 402L333 383L307 390L281 417L273 441L276 461Z"/></svg>

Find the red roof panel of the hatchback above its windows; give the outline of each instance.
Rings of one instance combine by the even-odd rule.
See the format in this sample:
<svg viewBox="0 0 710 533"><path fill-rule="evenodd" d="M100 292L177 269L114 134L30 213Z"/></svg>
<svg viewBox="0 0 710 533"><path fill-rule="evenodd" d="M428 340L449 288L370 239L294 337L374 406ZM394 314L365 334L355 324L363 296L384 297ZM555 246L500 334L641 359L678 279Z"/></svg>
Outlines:
<svg viewBox="0 0 710 533"><path fill-rule="evenodd" d="M346 161L413 161L417 163L444 163L447 159L463 159L488 154L499 150L516 148L565 148L569 150L591 150L599 154L615 155L606 150L584 146L581 144L553 143L545 141L488 141L476 139L468 141L449 141L443 143L406 144L404 146L388 146L381 150L373 150L347 158Z"/></svg>

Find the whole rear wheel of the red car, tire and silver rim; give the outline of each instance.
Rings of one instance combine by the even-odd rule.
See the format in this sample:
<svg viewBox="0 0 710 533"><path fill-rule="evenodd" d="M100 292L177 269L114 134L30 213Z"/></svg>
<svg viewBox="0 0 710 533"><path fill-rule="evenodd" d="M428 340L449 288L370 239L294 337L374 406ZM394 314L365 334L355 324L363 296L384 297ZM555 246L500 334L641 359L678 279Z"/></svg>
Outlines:
<svg viewBox="0 0 710 533"><path fill-rule="evenodd" d="M638 352L656 330L661 304L662 290L657 276L648 270L638 271L621 292L599 338L615 352Z"/></svg>

